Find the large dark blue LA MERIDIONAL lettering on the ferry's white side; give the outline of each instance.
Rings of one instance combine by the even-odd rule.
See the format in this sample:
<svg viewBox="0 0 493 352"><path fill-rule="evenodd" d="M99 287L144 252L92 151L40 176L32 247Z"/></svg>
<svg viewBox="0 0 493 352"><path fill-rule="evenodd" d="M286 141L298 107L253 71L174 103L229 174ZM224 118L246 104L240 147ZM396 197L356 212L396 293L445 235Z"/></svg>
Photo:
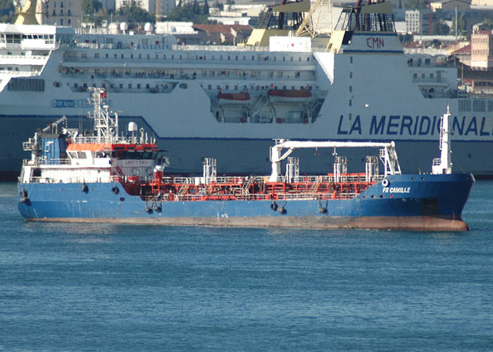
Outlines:
<svg viewBox="0 0 493 352"><path fill-rule="evenodd" d="M485 116L454 116L451 129L459 136L493 136L493 126ZM439 135L439 130L439 116L373 115L371 119L366 119L360 115L355 118L341 115L337 126L339 135L433 136Z"/></svg>

